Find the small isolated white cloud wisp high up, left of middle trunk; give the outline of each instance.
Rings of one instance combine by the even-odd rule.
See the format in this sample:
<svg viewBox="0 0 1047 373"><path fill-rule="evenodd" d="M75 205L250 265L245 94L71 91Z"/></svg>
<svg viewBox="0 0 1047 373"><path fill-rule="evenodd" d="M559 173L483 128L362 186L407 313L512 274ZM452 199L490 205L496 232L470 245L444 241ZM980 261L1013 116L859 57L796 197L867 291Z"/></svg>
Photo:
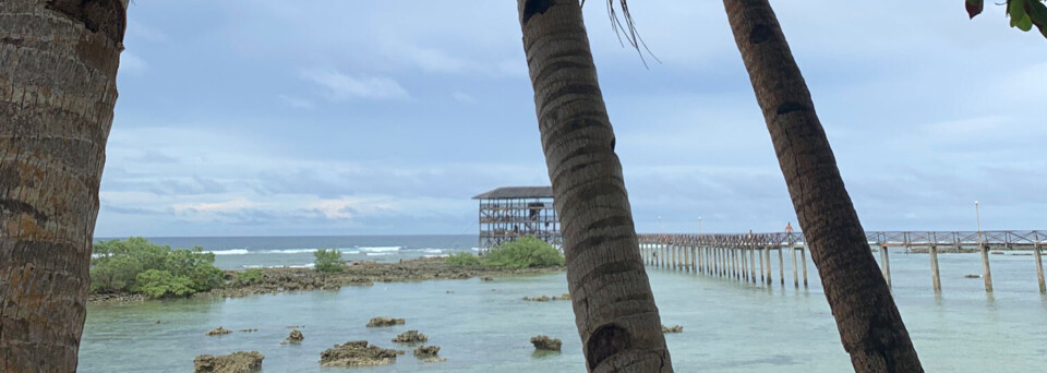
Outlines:
<svg viewBox="0 0 1047 373"><path fill-rule="evenodd" d="M333 101L408 98L407 89L385 76L353 76L335 70L311 69L303 71L302 77L324 87L325 96Z"/></svg>

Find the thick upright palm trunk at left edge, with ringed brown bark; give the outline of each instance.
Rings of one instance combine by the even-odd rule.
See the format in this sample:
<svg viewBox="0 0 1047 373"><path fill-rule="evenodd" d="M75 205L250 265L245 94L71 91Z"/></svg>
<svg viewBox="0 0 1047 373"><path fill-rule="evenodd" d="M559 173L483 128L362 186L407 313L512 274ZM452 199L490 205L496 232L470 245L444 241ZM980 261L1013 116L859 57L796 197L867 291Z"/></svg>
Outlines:
<svg viewBox="0 0 1047 373"><path fill-rule="evenodd" d="M74 372L127 0L0 1L0 371Z"/></svg>

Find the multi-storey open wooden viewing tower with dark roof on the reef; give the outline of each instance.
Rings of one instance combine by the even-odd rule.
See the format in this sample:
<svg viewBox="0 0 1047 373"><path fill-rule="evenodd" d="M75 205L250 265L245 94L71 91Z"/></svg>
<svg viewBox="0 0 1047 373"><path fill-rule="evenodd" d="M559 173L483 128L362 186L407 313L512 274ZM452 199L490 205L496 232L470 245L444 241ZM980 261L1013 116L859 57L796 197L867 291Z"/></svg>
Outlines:
<svg viewBox="0 0 1047 373"><path fill-rule="evenodd" d="M480 200L481 251L526 236L562 246L552 186L505 186L472 198Z"/></svg>

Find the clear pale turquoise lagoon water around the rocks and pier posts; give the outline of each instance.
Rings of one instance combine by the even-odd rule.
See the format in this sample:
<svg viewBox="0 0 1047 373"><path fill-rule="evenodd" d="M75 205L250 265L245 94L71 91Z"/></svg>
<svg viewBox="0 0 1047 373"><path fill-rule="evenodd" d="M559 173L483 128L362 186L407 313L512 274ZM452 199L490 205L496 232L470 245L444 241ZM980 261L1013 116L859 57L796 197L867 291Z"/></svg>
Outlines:
<svg viewBox="0 0 1047 373"><path fill-rule="evenodd" d="M810 286L767 287L719 277L649 269L679 372L845 372L850 361L808 263ZM996 291L986 294L977 254L941 254L943 291L930 290L926 254L892 253L894 293L924 366L929 372L1047 371L1047 298L1039 294L1031 256L991 255ZM774 258L777 261L777 257ZM525 302L559 294L564 274L346 287L228 300L179 300L88 308L81 372L188 372L201 353L257 350L264 372L340 372L321 369L333 344L368 339L382 347L407 329L442 347L443 363L410 353L387 366L356 372L583 372L581 344L569 302ZM449 292L448 292L449 291ZM372 316L407 325L366 328ZM160 320L160 324L156 321ZM281 346L287 325L305 327L305 340ZM217 326L258 328L205 337ZM562 353L534 354L531 336L564 340Z"/></svg>

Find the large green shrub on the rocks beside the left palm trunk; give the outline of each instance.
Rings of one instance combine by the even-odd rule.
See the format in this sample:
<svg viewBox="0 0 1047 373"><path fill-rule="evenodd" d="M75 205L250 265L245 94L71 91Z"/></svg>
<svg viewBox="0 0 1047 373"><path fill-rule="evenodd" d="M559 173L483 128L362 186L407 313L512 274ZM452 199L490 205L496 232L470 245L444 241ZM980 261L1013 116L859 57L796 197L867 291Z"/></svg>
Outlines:
<svg viewBox="0 0 1047 373"><path fill-rule="evenodd" d="M141 237L109 240L94 245L91 260L92 292L146 292L153 298L184 296L207 291L224 284L224 273L215 267L215 254L202 248L177 249L161 246ZM155 270L149 273L149 270ZM167 277L156 272L170 275ZM149 273L146 276L142 276ZM141 284L143 279L152 282Z"/></svg>

